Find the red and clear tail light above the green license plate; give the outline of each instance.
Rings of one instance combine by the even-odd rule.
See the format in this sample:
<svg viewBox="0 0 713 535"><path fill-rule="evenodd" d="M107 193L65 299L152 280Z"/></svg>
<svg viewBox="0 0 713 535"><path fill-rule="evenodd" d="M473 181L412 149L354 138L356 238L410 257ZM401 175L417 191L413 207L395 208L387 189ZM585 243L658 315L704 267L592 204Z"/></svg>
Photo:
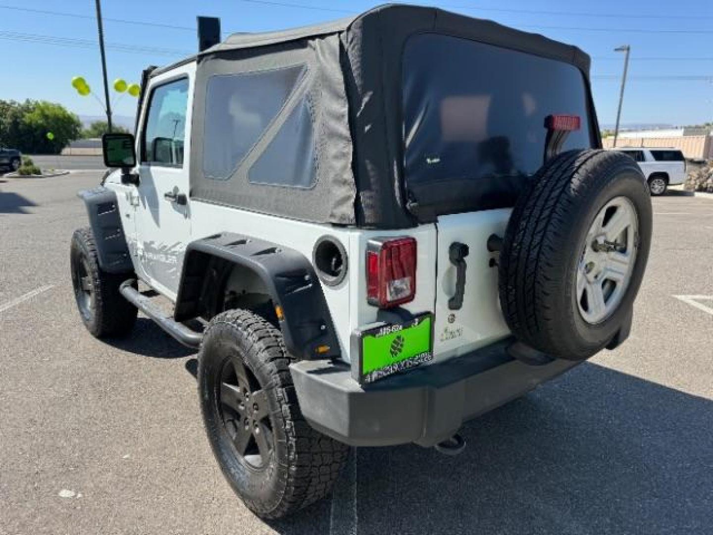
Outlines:
<svg viewBox="0 0 713 535"><path fill-rule="evenodd" d="M366 246L366 297L369 305L395 307L416 296L416 240L379 238Z"/></svg>

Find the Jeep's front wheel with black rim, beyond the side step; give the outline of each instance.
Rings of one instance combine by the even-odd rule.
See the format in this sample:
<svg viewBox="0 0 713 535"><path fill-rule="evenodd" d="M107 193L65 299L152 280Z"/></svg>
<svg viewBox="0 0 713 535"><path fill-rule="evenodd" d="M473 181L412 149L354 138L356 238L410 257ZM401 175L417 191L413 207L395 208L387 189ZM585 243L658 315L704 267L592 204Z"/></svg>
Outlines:
<svg viewBox="0 0 713 535"><path fill-rule="evenodd" d="M87 330L97 338L128 335L138 310L120 294L119 285L134 277L133 273L107 273L99 267L94 236L88 227L74 231L70 263L74 297Z"/></svg>

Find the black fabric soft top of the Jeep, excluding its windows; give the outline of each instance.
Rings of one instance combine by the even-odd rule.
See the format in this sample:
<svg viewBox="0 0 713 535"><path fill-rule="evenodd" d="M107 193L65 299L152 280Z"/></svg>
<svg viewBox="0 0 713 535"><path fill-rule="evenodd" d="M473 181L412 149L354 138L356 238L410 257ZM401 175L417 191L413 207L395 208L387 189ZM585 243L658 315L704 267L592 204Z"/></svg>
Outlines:
<svg viewBox="0 0 713 535"><path fill-rule="evenodd" d="M580 69L588 81L590 58L575 46L431 7L389 4L324 24L233 34L197 56L191 195L314 223L369 228L418 223L406 208L401 112L401 56L406 41L416 34L460 37L563 61ZM288 98L230 177L210 176L203 163L210 79L295 65L308 72L307 82L294 91L309 99L316 146L314 185L287 190L254 183L249 176L250 166L300 105L301 93Z"/></svg>

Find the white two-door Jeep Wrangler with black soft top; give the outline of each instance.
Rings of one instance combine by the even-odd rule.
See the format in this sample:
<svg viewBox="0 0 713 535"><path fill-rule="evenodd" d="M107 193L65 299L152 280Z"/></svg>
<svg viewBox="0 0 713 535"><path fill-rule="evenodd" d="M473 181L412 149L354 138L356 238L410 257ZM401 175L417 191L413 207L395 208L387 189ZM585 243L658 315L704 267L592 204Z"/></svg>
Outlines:
<svg viewBox="0 0 713 535"><path fill-rule="evenodd" d="M650 196L600 150L589 65L400 5L148 69L136 139L103 139L120 170L80 194L83 322L140 310L200 347L207 437L260 516L325 496L347 444L458 452L629 333Z"/></svg>

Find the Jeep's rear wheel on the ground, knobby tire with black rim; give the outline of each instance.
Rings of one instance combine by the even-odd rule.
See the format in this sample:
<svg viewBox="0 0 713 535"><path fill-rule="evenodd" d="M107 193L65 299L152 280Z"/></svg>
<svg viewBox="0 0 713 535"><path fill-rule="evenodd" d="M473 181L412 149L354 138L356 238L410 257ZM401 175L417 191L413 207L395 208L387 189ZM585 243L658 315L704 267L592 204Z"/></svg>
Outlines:
<svg viewBox="0 0 713 535"><path fill-rule="evenodd" d="M205 431L230 486L265 519L291 514L327 496L349 453L346 445L304 420L288 365L282 335L253 312L222 312L205 330L198 361ZM241 386L246 383L249 397ZM240 392L237 398L235 392ZM246 421L243 429L250 429L245 432L250 437L240 439L236 422ZM269 447L265 457L257 442L260 432Z"/></svg>

